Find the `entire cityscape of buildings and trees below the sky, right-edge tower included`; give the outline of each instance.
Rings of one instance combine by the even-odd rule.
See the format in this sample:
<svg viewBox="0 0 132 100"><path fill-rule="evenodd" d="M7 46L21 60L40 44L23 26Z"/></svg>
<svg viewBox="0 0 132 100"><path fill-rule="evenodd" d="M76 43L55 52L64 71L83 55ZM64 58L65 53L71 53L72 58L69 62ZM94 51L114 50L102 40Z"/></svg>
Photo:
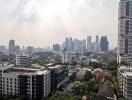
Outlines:
<svg viewBox="0 0 132 100"><path fill-rule="evenodd" d="M0 100L132 100L132 1L120 0L118 47L107 36L53 48L0 46Z"/></svg>

